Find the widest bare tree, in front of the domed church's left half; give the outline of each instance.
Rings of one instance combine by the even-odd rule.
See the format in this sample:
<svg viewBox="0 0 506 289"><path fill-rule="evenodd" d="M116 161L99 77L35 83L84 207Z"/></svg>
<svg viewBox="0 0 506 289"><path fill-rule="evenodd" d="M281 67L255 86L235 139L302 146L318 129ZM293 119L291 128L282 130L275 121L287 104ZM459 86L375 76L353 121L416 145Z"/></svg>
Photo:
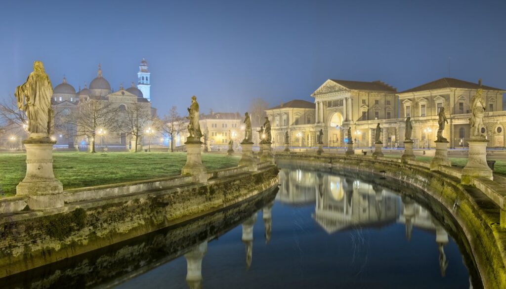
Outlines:
<svg viewBox="0 0 506 289"><path fill-rule="evenodd" d="M73 128L74 136L86 136L91 143L91 152L95 151L96 133L99 128L113 132L118 127L119 109L107 101L98 99L81 100L68 115L62 116L62 122Z"/></svg>

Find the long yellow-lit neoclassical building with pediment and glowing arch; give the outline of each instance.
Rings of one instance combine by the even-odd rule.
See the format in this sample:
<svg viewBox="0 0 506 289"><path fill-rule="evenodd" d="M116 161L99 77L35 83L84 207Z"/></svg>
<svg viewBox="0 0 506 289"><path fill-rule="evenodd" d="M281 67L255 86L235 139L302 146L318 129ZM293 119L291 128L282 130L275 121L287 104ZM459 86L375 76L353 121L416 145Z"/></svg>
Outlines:
<svg viewBox="0 0 506 289"><path fill-rule="evenodd" d="M275 107L266 112L271 122L274 121L272 126L273 132L276 130L276 138L278 130L288 129L292 140L293 133L304 132L305 141L290 141L291 146L314 146L317 133L322 130L325 146L343 147L351 138L356 147L372 147L375 128L380 123L384 146L403 147L405 117L411 116L414 148L434 148L438 113L444 107L448 125L443 135L451 148L458 148L467 146L471 117L469 103L479 88L483 90L487 107L484 123L490 141L488 146L503 148L506 143L506 111L502 110L502 95L506 91L455 78L437 79L402 92L382 81L328 79L311 95L314 108L307 105L305 113L315 115L315 120L304 128L276 126L276 117L284 124L283 113L288 117L289 109ZM348 135L349 128L351 136ZM277 142L275 145L282 144Z"/></svg>

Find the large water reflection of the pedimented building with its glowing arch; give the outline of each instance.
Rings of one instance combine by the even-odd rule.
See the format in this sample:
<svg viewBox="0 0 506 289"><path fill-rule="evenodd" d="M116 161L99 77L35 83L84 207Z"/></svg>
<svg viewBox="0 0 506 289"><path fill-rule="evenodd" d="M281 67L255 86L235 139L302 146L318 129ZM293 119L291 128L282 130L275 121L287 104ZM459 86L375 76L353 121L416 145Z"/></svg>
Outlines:
<svg viewBox="0 0 506 289"><path fill-rule="evenodd" d="M315 221L329 234L352 226L395 222L398 197L383 189L341 176L318 178Z"/></svg>

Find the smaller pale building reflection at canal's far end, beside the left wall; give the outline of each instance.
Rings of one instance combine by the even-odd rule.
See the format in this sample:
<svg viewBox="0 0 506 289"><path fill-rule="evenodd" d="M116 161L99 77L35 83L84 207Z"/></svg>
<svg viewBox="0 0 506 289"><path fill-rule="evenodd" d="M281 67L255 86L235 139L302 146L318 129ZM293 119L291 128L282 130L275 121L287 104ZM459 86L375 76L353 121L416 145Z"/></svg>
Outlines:
<svg viewBox="0 0 506 289"><path fill-rule="evenodd" d="M315 202L316 173L300 169L280 169L279 192L282 203L309 204Z"/></svg>

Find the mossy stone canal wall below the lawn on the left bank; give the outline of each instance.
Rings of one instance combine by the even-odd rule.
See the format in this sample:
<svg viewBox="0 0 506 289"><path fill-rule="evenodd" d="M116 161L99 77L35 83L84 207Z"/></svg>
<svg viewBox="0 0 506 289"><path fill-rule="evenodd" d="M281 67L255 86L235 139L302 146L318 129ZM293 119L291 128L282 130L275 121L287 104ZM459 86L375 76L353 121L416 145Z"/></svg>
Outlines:
<svg viewBox="0 0 506 289"><path fill-rule="evenodd" d="M129 182L64 192L62 208L28 210L23 197L0 208L0 278L202 216L248 199L278 183L278 170L236 167L191 177Z"/></svg>

